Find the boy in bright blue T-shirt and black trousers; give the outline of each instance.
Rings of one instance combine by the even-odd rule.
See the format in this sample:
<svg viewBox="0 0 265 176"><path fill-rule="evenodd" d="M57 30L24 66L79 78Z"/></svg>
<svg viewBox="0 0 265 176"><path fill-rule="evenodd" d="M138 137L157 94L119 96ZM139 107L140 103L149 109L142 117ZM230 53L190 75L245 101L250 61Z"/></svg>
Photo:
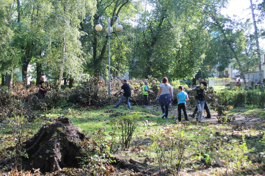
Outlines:
<svg viewBox="0 0 265 176"><path fill-rule="evenodd" d="M183 110L185 121L189 121L188 114L187 114L187 108L186 108L186 101L188 101L188 94L183 91L183 86L179 86L179 93L177 95L178 98L178 111L179 111L179 117L177 122L181 121L181 109Z"/></svg>

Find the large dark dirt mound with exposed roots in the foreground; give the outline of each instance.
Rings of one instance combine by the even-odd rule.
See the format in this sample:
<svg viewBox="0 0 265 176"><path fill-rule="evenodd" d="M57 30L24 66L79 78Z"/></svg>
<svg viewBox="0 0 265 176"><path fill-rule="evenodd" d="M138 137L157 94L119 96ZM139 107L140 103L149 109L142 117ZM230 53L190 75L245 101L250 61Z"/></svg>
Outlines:
<svg viewBox="0 0 265 176"><path fill-rule="evenodd" d="M29 159L26 169L40 168L42 173L64 167L78 167L81 156L77 143L85 139L80 128L66 117L60 117L50 125L44 125L38 133L25 142Z"/></svg>

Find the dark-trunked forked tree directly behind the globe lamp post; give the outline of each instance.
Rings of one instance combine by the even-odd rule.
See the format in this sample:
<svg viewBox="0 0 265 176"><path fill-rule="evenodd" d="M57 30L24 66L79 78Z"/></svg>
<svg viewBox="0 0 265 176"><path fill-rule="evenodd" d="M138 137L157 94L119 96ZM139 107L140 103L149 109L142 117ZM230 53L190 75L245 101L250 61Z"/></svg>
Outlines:
<svg viewBox="0 0 265 176"><path fill-rule="evenodd" d="M108 21L103 18L101 20L101 24L104 28L101 32L97 32L95 30L95 25L98 23L98 20L101 16L106 16L107 18L111 18L112 16L120 16L121 24L124 25L128 22L125 22L130 15L133 14L135 8L132 4L132 0L97 0L96 3L96 13L91 17L87 17L83 20L81 24L81 30L86 33L86 35L81 37L81 42L84 46L87 63L86 69L87 71L94 76L105 76L107 73L107 55L108 52L108 37L105 29L108 26ZM115 29L117 19L113 18L110 21L110 26ZM126 32L127 33L127 32ZM124 35L124 33L115 32L111 33L111 41L116 42L119 40L119 36ZM119 40L123 42L122 40ZM91 47L92 46L92 47ZM118 45L116 45L118 47ZM113 42L111 42L111 56L113 55ZM125 54L125 53L124 53ZM113 58L111 57L113 61ZM112 64L113 62L111 62ZM112 64L113 65L113 64Z"/></svg>

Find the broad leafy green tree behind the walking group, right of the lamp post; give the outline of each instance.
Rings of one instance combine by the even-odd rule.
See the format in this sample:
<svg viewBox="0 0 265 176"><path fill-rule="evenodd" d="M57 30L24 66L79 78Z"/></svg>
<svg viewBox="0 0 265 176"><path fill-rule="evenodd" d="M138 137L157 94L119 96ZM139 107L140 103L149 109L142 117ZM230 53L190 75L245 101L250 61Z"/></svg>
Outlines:
<svg viewBox="0 0 265 176"><path fill-rule="evenodd" d="M209 37L202 23L202 10L189 1L150 1L152 10L139 19L133 77L168 76L192 78L205 57ZM140 70L140 72L139 72Z"/></svg>

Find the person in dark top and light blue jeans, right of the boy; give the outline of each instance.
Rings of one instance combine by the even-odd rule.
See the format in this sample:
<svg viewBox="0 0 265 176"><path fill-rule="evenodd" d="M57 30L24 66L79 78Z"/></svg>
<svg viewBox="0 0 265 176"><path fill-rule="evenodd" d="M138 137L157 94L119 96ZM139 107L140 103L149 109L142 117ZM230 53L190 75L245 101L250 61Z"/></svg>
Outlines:
<svg viewBox="0 0 265 176"><path fill-rule="evenodd" d="M202 115L203 115L203 108L204 108L204 103L205 103L205 89L207 89L207 83L205 81L202 82L202 86L197 86L194 88L197 91L197 95L195 99L198 100L198 113L196 115L196 121L201 121L202 120Z"/></svg>

